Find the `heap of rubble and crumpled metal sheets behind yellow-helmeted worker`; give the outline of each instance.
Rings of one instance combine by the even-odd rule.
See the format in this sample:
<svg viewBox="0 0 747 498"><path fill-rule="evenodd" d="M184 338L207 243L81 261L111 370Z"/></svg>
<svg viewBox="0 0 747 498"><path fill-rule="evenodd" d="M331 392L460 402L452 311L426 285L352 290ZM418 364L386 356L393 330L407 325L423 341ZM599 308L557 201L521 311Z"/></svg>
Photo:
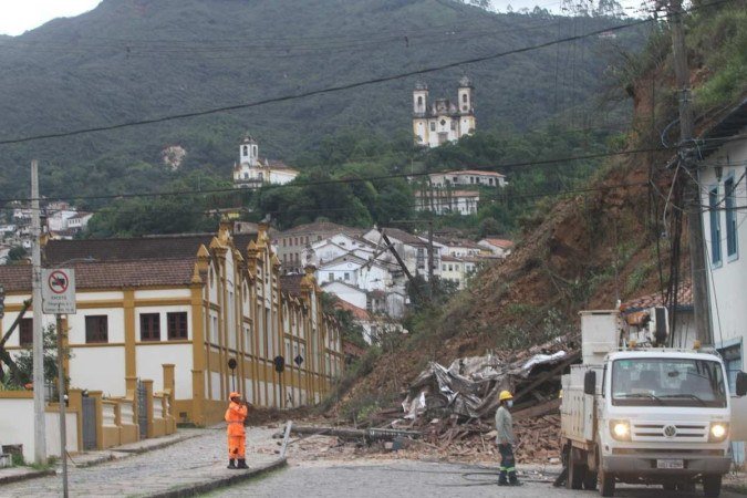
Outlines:
<svg viewBox="0 0 747 498"><path fill-rule="evenodd" d="M498 394L508 390L515 393L517 456L556 463L560 375L579 362L578 340L564 335L515 354L458 359L448 367L430 362L408 387L402 408L380 411L370 421L375 427L419 433L415 446L421 453L490 459L497 454Z"/></svg>

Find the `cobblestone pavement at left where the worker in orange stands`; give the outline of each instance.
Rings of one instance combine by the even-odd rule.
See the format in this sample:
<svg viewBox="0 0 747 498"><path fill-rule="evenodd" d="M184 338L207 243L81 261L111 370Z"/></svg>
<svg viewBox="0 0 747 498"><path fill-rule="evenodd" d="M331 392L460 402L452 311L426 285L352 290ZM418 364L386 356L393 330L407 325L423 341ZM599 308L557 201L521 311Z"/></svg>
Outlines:
<svg viewBox="0 0 747 498"><path fill-rule="evenodd" d="M191 429L196 437L173 446L94 467L69 465L70 496L145 496L185 485L234 476L228 470L226 429ZM249 428L247 464L250 467L278 459L272 450L274 430ZM75 460L75 456L73 456ZM62 477L43 477L0 487L0 497L59 497Z"/></svg>

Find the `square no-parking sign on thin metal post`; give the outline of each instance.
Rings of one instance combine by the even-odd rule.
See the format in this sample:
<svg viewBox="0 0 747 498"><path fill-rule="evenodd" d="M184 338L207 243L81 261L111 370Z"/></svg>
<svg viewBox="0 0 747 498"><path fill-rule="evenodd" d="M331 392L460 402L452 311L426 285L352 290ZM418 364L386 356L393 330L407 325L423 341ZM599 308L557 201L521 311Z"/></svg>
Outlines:
<svg viewBox="0 0 747 498"><path fill-rule="evenodd" d="M62 496L68 498L68 427L65 422L65 365L62 342L62 315L75 314L75 270L51 269L42 272L42 311L55 315L58 335L58 395L60 402L60 458Z"/></svg>

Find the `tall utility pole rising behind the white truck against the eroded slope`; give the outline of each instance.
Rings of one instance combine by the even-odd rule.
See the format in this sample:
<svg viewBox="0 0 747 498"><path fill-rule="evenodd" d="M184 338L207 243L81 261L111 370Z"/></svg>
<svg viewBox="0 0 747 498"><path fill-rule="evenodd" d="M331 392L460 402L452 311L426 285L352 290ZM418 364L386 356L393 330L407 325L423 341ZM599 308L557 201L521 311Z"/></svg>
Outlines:
<svg viewBox="0 0 747 498"><path fill-rule="evenodd" d="M677 154L679 165L689 173L685 178L684 199L687 210L687 246L689 248L689 268L693 281L693 308L695 330L702 344L713 344L710 313L708 302L708 280L705 260L705 237L701 215L699 169L693 158L693 111L691 108L689 69L685 35L683 33L682 0L670 0L670 25L672 28L672 55L674 73L679 92L679 144ZM677 292L677 289L675 289Z"/></svg>

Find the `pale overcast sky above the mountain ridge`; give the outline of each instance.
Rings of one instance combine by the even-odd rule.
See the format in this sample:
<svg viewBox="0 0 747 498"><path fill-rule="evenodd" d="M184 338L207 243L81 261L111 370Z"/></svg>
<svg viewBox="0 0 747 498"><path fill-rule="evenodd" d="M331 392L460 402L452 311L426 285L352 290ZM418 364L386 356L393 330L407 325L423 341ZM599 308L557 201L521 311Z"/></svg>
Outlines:
<svg viewBox="0 0 747 498"><path fill-rule="evenodd" d="M639 7L641 0L619 0L625 7ZM0 33L21 34L54 18L79 15L95 8L101 0L0 0ZM496 10L505 12L510 4L513 10L540 6L561 13L561 0L492 0ZM632 13L629 11L629 13Z"/></svg>

